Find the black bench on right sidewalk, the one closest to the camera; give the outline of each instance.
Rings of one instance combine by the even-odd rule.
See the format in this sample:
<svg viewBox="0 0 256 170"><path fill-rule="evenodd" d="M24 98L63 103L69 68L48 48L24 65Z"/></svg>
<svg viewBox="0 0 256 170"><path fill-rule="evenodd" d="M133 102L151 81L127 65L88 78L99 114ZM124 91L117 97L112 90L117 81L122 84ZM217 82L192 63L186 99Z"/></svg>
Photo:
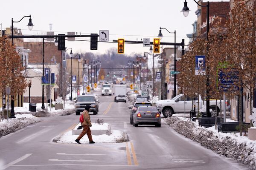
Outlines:
<svg viewBox="0 0 256 170"><path fill-rule="evenodd" d="M248 128L250 128L250 123L242 122L242 125L245 125L245 128L242 129L242 132L246 132ZM232 132L239 132L239 122L222 122L218 123L218 132L223 133L232 133Z"/></svg>

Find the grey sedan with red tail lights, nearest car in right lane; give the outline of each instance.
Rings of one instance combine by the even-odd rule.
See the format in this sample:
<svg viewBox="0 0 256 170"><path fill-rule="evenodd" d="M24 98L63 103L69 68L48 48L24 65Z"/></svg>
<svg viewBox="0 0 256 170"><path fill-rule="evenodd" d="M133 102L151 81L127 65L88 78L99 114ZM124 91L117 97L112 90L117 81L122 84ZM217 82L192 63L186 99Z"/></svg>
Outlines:
<svg viewBox="0 0 256 170"><path fill-rule="evenodd" d="M133 125L155 125L161 127L161 116L154 106L140 106L133 115Z"/></svg>

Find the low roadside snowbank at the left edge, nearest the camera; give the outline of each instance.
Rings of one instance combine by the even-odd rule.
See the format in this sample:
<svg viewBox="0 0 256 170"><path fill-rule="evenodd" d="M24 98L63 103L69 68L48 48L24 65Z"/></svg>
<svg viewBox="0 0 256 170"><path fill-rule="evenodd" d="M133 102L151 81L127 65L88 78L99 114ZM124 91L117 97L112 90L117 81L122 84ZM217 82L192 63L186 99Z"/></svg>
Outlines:
<svg viewBox="0 0 256 170"><path fill-rule="evenodd" d="M31 114L16 114L15 116L16 118L4 119L3 122L0 122L0 137L41 121Z"/></svg>

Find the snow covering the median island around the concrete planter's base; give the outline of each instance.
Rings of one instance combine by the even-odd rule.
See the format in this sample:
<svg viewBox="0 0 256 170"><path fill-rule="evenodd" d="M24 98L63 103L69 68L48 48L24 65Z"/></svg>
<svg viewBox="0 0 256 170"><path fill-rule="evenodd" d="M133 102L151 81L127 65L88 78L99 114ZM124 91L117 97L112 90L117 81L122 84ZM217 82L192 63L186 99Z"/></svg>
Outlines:
<svg viewBox="0 0 256 170"><path fill-rule="evenodd" d="M58 143L76 143L75 140L79 135L72 135L72 130L67 131L61 136ZM96 143L119 143L126 142L127 135L120 130L112 130L112 133L108 135L92 135L93 141ZM89 143L89 139L85 134L80 140L81 143Z"/></svg>

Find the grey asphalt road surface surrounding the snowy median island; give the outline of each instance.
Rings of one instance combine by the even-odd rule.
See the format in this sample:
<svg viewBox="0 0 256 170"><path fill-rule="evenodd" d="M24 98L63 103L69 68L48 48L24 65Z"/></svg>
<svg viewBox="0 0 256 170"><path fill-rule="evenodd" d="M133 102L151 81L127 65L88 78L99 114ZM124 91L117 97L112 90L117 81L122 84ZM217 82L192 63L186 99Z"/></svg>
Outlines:
<svg viewBox="0 0 256 170"><path fill-rule="evenodd" d="M0 170L245 170L244 166L162 127L129 124L128 103L99 96L99 113L112 130L128 133L129 142L58 144L56 136L78 123L79 116L45 117L0 138Z"/></svg>

